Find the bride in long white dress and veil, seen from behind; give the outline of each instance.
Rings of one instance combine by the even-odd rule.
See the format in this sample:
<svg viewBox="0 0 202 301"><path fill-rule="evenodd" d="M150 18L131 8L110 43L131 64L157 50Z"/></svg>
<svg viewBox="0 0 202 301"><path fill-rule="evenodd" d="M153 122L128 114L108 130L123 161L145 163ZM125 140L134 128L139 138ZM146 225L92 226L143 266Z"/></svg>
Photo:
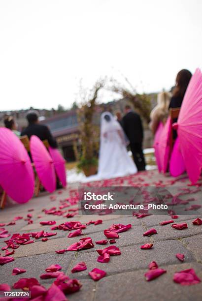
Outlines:
<svg viewBox="0 0 202 301"><path fill-rule="evenodd" d="M98 174L87 177L85 182L124 177L136 173L137 168L127 152L121 125L111 113L102 113Z"/></svg>

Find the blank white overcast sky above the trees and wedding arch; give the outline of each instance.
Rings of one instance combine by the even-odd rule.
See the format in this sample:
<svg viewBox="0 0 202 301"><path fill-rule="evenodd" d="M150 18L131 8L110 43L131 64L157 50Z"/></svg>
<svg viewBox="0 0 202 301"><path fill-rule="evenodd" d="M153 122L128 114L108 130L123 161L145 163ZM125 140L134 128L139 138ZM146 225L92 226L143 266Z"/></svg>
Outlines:
<svg viewBox="0 0 202 301"><path fill-rule="evenodd" d="M0 0L0 111L68 108L80 78L91 87L123 73L139 92L170 89L197 67L201 0Z"/></svg>

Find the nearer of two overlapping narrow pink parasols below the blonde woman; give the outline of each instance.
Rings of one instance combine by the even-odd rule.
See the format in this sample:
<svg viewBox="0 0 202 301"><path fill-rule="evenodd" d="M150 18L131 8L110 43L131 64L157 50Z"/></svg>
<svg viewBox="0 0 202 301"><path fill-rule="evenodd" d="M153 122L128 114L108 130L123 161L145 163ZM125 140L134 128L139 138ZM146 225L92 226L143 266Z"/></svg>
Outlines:
<svg viewBox="0 0 202 301"><path fill-rule="evenodd" d="M160 152L160 164L163 173L168 170L168 162L170 157L170 139L171 139L171 119L168 117L164 128L162 129L161 136L159 138L159 152Z"/></svg>

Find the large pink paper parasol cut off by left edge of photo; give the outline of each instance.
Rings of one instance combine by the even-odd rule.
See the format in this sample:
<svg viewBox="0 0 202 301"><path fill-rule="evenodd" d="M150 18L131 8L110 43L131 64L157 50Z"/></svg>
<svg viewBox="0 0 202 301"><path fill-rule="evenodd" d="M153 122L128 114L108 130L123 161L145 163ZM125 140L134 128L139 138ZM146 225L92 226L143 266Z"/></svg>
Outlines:
<svg viewBox="0 0 202 301"><path fill-rule="evenodd" d="M17 203L28 202L34 194L34 172L20 139L0 127L0 185Z"/></svg>

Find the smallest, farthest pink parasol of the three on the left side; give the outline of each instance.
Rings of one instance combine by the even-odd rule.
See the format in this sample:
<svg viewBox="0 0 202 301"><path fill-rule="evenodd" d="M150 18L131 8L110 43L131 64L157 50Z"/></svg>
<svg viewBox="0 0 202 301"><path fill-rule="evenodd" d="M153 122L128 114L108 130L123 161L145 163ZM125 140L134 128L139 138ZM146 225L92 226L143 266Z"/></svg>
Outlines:
<svg viewBox="0 0 202 301"><path fill-rule="evenodd" d="M56 174L57 174L59 180L62 182L63 186L65 187L67 184L65 160L57 149L53 149L53 148L49 147L48 150L53 159Z"/></svg>

